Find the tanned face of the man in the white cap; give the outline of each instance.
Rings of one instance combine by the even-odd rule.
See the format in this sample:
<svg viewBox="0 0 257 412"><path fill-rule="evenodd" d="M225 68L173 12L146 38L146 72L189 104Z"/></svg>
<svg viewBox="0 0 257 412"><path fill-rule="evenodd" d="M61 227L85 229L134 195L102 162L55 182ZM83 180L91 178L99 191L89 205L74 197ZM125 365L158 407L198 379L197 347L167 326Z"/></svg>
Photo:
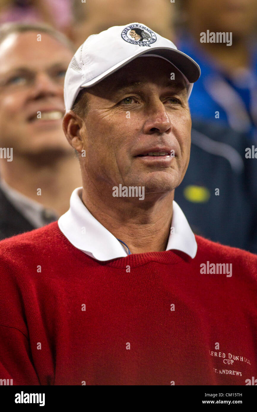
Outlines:
<svg viewBox="0 0 257 412"><path fill-rule="evenodd" d="M172 72L175 80L170 80ZM87 91L89 111L81 131L86 179L96 187L103 182L109 188L120 183L144 186L146 194L177 187L191 143L191 117L179 71L158 57L139 57Z"/></svg>

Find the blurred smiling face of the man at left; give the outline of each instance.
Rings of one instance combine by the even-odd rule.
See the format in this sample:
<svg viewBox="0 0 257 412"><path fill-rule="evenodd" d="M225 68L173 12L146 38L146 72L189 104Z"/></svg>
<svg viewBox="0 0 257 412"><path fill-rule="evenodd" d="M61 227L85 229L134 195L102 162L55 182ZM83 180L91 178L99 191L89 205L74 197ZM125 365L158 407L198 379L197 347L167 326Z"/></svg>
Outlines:
<svg viewBox="0 0 257 412"><path fill-rule="evenodd" d="M0 146L16 153L69 151L62 131L63 86L72 51L43 33L14 33L0 44Z"/></svg>

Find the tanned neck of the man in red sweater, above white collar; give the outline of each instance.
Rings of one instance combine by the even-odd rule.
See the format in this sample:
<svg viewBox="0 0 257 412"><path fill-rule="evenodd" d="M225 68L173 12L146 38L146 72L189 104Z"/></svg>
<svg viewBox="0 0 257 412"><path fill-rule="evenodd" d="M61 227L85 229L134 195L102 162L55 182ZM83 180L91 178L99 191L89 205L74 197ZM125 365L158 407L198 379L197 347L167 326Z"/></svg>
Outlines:
<svg viewBox="0 0 257 412"><path fill-rule="evenodd" d="M172 220L174 190L158 200L103 197L107 190L91 190L87 184L82 200L90 213L131 253L166 250ZM126 199L126 200L124 200Z"/></svg>

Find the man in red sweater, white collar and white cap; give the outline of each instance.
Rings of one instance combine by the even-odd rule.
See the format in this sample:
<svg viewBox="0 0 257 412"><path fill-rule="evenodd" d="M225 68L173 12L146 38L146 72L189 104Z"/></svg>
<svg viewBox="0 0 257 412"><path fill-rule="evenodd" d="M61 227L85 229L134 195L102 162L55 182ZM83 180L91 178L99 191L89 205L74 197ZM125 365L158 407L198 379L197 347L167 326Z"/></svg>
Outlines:
<svg viewBox="0 0 257 412"><path fill-rule="evenodd" d="M58 223L0 243L0 379L255 382L257 255L195 236L173 200L199 75L141 23L76 52L63 127L83 187Z"/></svg>

